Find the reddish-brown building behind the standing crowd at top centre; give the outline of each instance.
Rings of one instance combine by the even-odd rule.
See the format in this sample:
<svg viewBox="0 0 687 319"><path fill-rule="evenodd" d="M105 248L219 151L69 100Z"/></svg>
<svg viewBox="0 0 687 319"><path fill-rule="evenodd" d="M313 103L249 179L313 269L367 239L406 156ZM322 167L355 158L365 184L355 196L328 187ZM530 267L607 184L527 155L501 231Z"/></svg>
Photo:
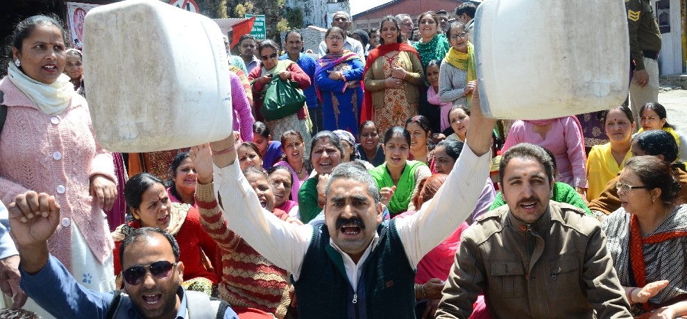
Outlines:
<svg viewBox="0 0 687 319"><path fill-rule="evenodd" d="M353 29L369 30L371 28L379 28L380 21L387 15L398 15L399 13L407 13L413 20L426 11L446 10L450 17L453 17L455 9L460 6L462 1L459 0L395 0L377 7L375 10L367 10L360 12L353 16ZM415 23L417 24L417 23Z"/></svg>

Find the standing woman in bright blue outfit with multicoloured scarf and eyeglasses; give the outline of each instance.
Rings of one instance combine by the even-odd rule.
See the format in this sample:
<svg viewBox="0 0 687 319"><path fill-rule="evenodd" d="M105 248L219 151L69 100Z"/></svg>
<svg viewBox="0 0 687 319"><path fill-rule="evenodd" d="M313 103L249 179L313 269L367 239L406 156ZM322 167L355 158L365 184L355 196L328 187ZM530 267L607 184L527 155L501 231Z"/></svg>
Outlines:
<svg viewBox="0 0 687 319"><path fill-rule="evenodd" d="M346 33L337 26L325 33L327 54L317 61L315 92L322 101L323 128L357 135L365 64L359 55L343 49L345 39Z"/></svg>

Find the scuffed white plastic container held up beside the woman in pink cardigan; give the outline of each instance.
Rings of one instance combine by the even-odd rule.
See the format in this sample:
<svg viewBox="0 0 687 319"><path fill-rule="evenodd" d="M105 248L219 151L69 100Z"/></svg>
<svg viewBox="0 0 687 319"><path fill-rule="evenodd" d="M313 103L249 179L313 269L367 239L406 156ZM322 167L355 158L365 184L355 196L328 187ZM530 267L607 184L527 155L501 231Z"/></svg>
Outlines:
<svg viewBox="0 0 687 319"><path fill-rule="evenodd" d="M157 0L112 3L88 12L83 49L104 148L170 150L231 134L226 49L211 19Z"/></svg>

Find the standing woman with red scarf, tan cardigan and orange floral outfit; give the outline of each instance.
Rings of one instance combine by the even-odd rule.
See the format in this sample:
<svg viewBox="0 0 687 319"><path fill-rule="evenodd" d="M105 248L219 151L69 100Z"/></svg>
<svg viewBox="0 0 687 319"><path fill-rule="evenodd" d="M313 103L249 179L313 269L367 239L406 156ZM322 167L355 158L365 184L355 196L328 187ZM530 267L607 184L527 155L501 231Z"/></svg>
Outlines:
<svg viewBox="0 0 687 319"><path fill-rule="evenodd" d="M382 45L370 51L365 64L362 116L375 121L384 134L418 114L418 87L424 85L425 75L418 52L402 41L396 18L384 17L380 34Z"/></svg>

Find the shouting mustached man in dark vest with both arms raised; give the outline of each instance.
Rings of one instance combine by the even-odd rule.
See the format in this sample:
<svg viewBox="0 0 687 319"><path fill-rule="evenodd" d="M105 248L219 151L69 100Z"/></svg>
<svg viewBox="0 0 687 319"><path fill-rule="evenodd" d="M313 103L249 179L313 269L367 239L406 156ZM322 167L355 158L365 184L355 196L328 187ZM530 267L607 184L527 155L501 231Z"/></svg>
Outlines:
<svg viewBox="0 0 687 319"><path fill-rule="evenodd" d="M471 105L470 139L446 184L407 218L382 221L380 198L393 194L380 196L356 164L339 164L330 175L325 224L314 228L282 223L262 209L235 163L232 136L192 147L191 159L198 181L214 178L228 227L292 274L300 318L415 318L416 265L473 212L489 175L495 121L482 115L479 93Z"/></svg>

